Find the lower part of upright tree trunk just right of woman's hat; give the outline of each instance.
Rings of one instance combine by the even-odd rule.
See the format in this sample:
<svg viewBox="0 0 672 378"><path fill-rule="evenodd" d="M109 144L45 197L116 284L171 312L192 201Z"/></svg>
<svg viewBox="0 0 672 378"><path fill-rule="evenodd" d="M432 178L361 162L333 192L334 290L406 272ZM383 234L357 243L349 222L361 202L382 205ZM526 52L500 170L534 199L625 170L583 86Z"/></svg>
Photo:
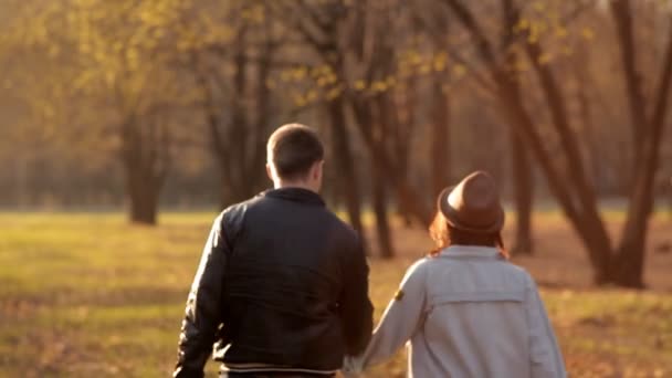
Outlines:
<svg viewBox="0 0 672 378"><path fill-rule="evenodd" d="M522 138L511 128L513 187L516 207L516 237L511 252L513 254L533 254L532 242L532 202L534 179L527 156L527 147Z"/></svg>

